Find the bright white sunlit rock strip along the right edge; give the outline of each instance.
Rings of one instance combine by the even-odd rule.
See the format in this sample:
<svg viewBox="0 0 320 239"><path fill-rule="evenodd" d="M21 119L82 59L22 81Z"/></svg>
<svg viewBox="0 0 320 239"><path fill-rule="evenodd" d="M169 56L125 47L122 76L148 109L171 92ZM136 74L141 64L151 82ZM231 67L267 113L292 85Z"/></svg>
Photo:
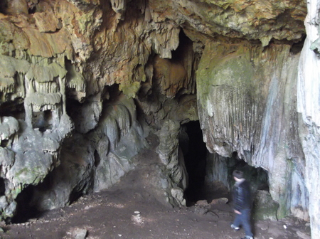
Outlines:
<svg viewBox="0 0 320 239"><path fill-rule="evenodd" d="M308 127L308 132L300 135L306 157L306 186L309 190L309 216L311 220L311 238L320 238L320 59L310 50L311 43L319 38L319 0L307 2L308 15L304 21L306 40L299 62L297 87L298 112Z"/></svg>

